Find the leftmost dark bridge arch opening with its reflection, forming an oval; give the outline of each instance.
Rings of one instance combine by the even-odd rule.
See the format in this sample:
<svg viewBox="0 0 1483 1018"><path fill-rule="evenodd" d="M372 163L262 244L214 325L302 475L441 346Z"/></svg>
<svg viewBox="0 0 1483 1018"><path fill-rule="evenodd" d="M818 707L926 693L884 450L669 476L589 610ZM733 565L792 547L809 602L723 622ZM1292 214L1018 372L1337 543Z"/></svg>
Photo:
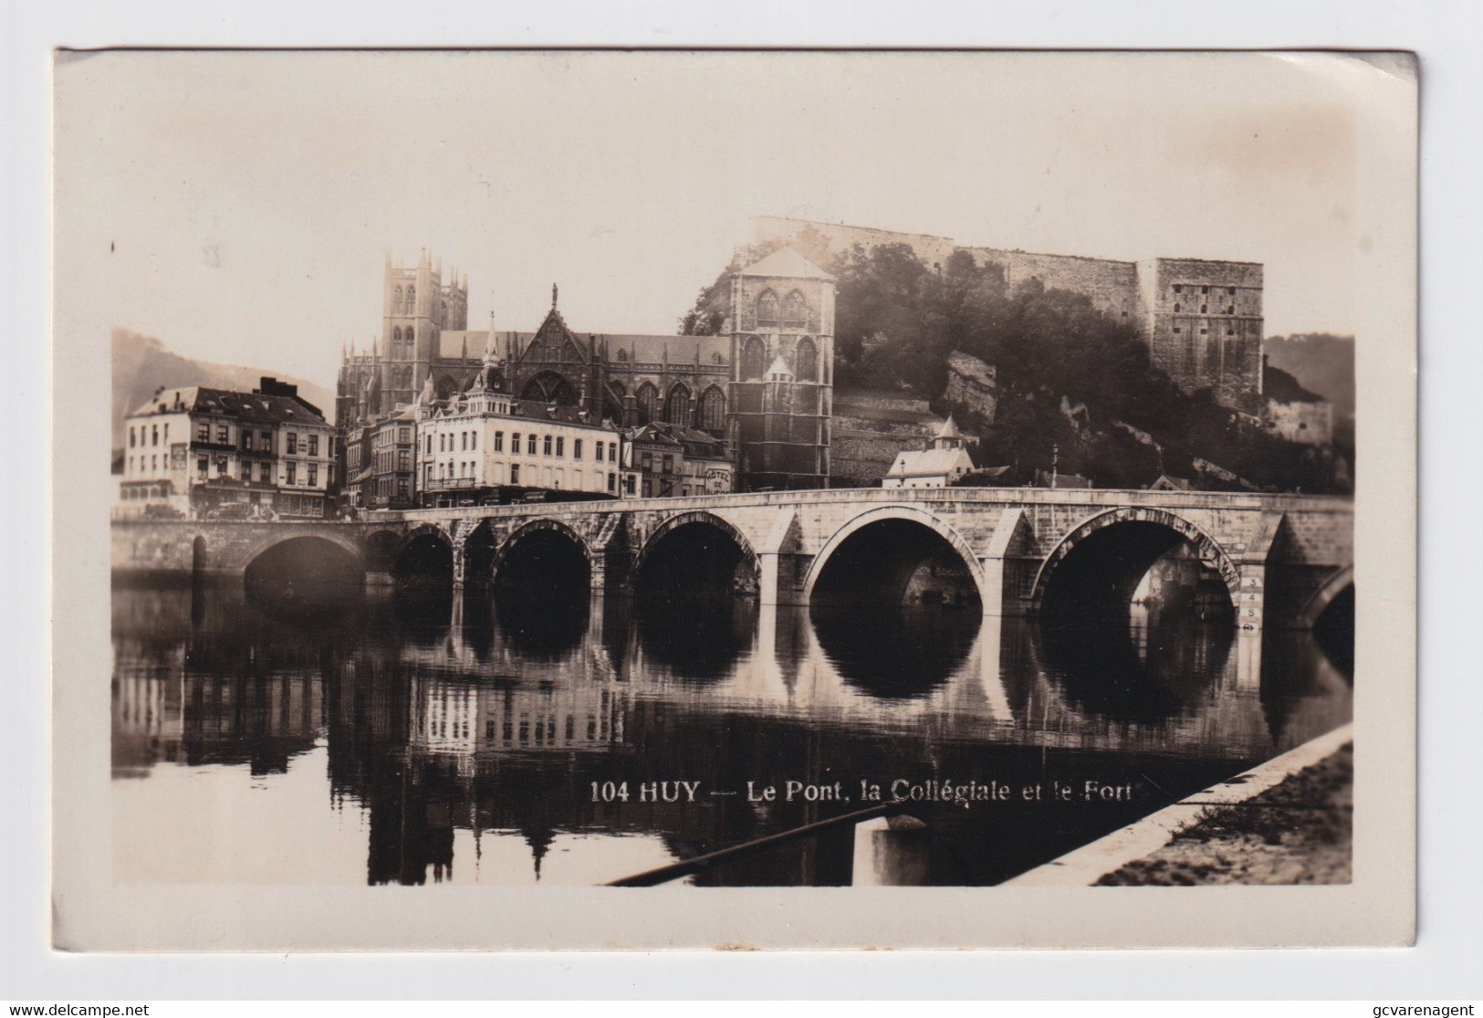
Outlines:
<svg viewBox="0 0 1483 1018"><path fill-rule="evenodd" d="M332 540L291 537L248 562L249 602L271 617L338 617L365 597L365 568Z"/></svg>

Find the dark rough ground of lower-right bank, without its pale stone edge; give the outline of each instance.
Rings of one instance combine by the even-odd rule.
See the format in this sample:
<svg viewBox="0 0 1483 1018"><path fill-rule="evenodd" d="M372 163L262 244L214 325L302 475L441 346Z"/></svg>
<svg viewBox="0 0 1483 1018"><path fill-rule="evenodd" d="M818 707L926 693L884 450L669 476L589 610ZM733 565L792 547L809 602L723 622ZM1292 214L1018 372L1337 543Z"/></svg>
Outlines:
<svg viewBox="0 0 1483 1018"><path fill-rule="evenodd" d="M1238 806L1216 806L1100 887L1350 883L1354 745Z"/></svg>

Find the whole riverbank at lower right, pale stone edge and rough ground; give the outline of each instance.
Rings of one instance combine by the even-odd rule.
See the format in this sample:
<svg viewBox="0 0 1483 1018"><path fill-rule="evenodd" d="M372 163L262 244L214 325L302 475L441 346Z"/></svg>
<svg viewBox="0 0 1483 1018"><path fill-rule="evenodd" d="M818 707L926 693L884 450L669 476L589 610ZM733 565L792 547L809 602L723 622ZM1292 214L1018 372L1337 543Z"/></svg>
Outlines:
<svg viewBox="0 0 1483 1018"><path fill-rule="evenodd" d="M1345 883L1354 726L1145 816L1007 886Z"/></svg>

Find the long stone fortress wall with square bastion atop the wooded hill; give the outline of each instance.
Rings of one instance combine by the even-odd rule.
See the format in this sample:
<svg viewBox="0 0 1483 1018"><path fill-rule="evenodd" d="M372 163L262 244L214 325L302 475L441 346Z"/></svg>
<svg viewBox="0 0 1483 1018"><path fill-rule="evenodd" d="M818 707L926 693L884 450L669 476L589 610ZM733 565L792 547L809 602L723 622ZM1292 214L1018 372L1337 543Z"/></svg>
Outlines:
<svg viewBox="0 0 1483 1018"><path fill-rule="evenodd" d="M1262 413L1262 266L1250 261L1148 258L1114 261L965 246L951 237L897 233L816 220L756 217L753 242L816 246L830 252L860 245L909 246L922 264L943 266L965 251L979 266L998 266L1007 285L1038 280L1047 289L1084 294L1115 319L1139 328L1154 365L1185 392L1212 389L1216 399L1250 416Z"/></svg>

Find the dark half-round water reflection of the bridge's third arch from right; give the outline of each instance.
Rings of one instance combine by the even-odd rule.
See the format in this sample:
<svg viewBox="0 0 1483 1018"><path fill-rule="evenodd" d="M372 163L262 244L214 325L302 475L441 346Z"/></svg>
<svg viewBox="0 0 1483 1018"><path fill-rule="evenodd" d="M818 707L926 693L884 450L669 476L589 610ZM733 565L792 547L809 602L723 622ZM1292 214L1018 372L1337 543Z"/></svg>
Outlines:
<svg viewBox="0 0 1483 1018"><path fill-rule="evenodd" d="M982 622L967 611L896 605L816 607L808 617L844 681L888 700L918 699L946 683Z"/></svg>

